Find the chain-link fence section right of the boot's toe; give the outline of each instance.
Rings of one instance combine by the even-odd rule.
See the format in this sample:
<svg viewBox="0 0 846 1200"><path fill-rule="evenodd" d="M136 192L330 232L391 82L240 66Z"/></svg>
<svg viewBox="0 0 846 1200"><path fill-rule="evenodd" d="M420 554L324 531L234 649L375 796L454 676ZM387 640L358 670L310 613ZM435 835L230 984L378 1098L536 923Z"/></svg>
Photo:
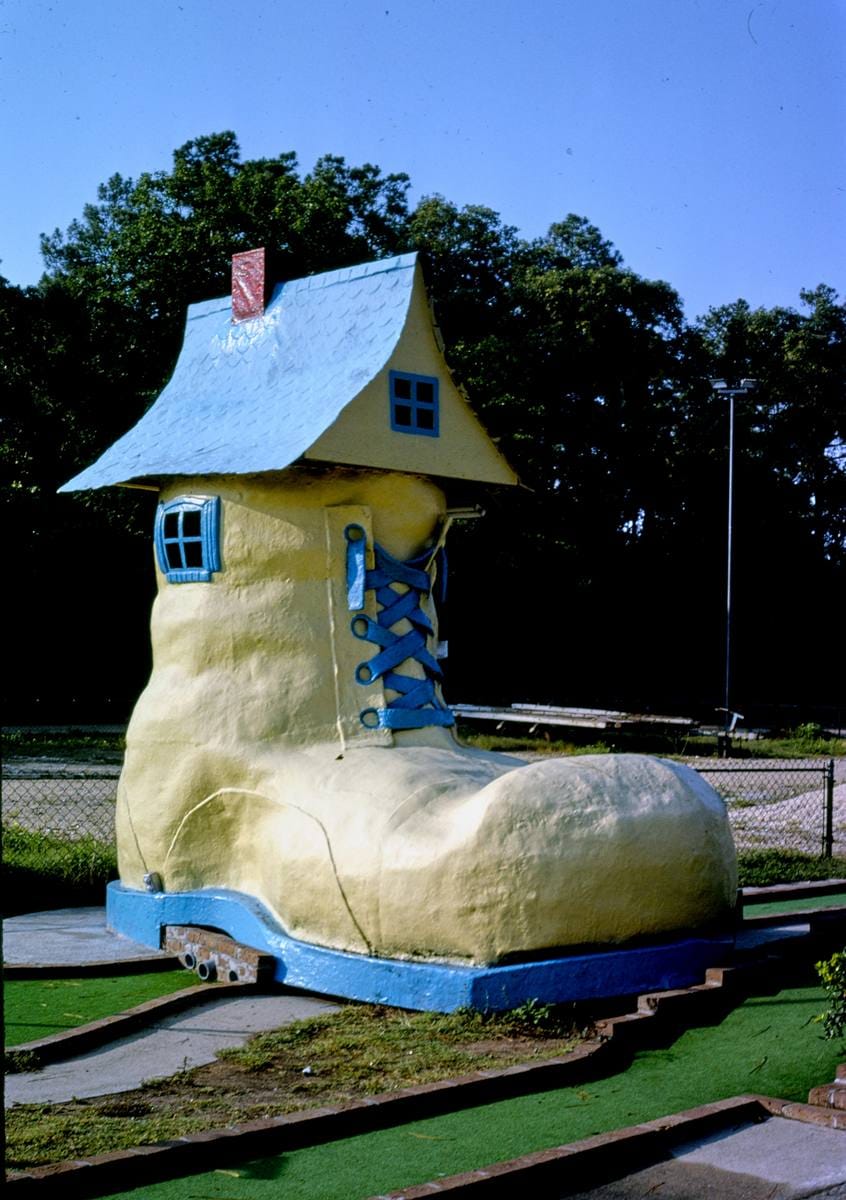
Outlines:
<svg viewBox="0 0 846 1200"><path fill-rule="evenodd" d="M846 854L846 785L836 788L834 760L757 762L690 761L728 809L734 845L744 850L794 850Z"/></svg>

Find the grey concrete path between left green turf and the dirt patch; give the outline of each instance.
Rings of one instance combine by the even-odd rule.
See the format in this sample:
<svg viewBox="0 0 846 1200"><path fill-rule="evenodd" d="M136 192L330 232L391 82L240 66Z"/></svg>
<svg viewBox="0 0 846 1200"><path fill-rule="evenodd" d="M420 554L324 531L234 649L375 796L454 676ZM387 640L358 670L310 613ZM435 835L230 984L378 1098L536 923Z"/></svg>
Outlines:
<svg viewBox="0 0 846 1200"><path fill-rule="evenodd" d="M149 1079L214 1062L218 1050L242 1045L253 1033L335 1008L329 1001L290 992L209 1000L78 1058L7 1075L6 1105L128 1092Z"/></svg>

